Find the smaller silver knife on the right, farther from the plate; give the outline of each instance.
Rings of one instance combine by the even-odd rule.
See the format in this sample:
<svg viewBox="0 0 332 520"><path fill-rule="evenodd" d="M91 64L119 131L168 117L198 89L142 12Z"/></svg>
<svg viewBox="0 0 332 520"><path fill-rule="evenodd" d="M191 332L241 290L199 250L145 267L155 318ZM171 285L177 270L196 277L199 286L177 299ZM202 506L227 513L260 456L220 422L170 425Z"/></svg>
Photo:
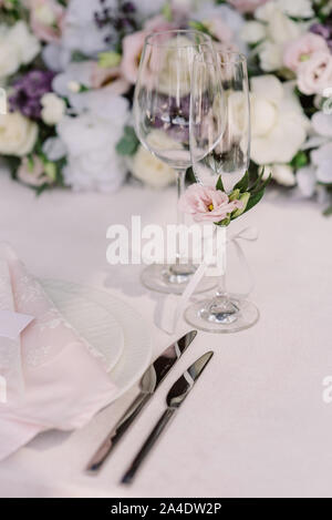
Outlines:
<svg viewBox="0 0 332 520"><path fill-rule="evenodd" d="M136 471L141 467L145 457L149 450L154 447L156 440L159 438L160 434L165 429L166 425L173 418L175 411L180 407L180 405L186 399L187 395L194 387L195 383L199 378L200 374L211 359L214 353L209 351L204 354L199 359L197 359L183 375L173 385L170 390L167 394L166 402L167 408L162 415L160 419L149 434L148 438L142 446L141 450L136 455L135 459L131 463L129 468L122 478L122 483L131 483L136 475Z"/></svg>

